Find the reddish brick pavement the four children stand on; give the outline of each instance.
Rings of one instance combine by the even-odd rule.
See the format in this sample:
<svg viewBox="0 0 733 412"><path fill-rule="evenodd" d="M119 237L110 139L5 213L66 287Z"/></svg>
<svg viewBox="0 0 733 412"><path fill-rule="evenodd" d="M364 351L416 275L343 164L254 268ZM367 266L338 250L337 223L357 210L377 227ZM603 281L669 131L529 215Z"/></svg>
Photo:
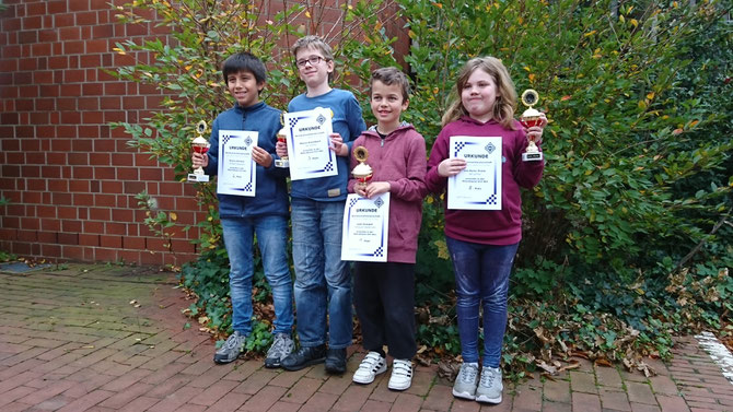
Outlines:
<svg viewBox="0 0 733 412"><path fill-rule="evenodd" d="M173 286L170 274L117 266L0 274L0 411L733 411L733 385L690 338L670 364L648 361L658 376L580 360L554 379L505 382L496 407L455 400L427 367L405 392L387 389L388 374L354 385L357 348L345 376L218 366L209 336L183 328L190 302Z"/></svg>

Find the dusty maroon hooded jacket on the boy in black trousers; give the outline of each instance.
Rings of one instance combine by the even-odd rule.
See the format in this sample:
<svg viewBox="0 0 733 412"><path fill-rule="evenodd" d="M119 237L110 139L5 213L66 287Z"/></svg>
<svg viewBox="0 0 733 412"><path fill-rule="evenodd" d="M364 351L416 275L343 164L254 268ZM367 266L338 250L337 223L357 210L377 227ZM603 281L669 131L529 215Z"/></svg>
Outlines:
<svg viewBox="0 0 733 412"><path fill-rule="evenodd" d="M373 128L372 128L373 129ZM352 148L369 151L366 164L372 167L372 181L389 183L389 240L387 261L415 263L418 233L422 221L422 199L428 193L426 142L412 125L403 123L384 141L374 130L366 130ZM359 162L351 155L351 169ZM349 178L348 191L353 193L357 180Z"/></svg>

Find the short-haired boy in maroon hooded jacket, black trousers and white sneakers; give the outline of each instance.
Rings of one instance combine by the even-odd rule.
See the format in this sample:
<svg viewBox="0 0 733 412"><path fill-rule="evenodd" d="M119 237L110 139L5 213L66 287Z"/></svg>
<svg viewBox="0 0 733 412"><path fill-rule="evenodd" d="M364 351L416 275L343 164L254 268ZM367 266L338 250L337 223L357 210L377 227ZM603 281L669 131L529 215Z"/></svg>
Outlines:
<svg viewBox="0 0 733 412"><path fill-rule="evenodd" d="M353 148L364 146L373 176L369 184L349 180L349 192L372 198L389 192L386 262L356 262L353 296L369 351L353 381L371 384L387 369L385 344L394 357L387 387L405 390L412 381L415 343L415 257L427 195L426 143L411 125L400 122L408 106L409 82L396 68L377 69L371 79L371 106L377 125L362 132ZM351 168L357 165L351 156Z"/></svg>

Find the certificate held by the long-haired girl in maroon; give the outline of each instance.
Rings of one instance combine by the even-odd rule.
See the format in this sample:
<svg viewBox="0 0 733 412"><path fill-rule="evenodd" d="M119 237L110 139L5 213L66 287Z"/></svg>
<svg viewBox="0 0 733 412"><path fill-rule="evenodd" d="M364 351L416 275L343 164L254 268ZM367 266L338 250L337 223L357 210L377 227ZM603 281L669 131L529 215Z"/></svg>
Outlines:
<svg viewBox="0 0 733 412"><path fill-rule="evenodd" d="M501 210L501 137L452 136L449 149L466 168L447 178L447 209Z"/></svg>

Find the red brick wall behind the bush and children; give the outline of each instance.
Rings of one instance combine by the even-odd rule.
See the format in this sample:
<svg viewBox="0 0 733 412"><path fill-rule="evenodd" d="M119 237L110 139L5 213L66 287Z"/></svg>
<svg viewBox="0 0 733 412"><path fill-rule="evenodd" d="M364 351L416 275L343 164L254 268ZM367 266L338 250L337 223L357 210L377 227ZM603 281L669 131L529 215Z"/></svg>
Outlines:
<svg viewBox="0 0 733 412"><path fill-rule="evenodd" d="M176 212L178 223L195 224L203 215L194 187L176 183L171 168L127 148L129 136L107 126L136 123L162 98L154 87L105 73L132 62L131 56L112 51L115 43L165 34L152 25L118 24L109 2L125 3L3 1L0 196L10 204L0 207L0 250L58 260L181 264L196 256L189 238L198 232L178 231L168 251L142 223L135 196L147 190L161 210ZM313 17L298 23L324 35L345 1L315 3ZM264 15L282 7L282 1L265 1Z"/></svg>

